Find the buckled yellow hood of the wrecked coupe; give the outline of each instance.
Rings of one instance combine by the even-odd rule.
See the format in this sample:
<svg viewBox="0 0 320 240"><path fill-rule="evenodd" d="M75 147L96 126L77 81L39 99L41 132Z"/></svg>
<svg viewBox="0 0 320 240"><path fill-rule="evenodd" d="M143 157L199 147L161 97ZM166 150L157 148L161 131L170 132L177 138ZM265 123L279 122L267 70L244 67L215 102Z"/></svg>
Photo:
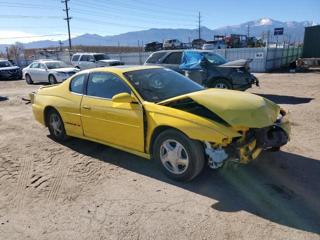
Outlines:
<svg viewBox="0 0 320 240"><path fill-rule="evenodd" d="M272 125L280 108L274 102L248 92L211 88L161 101L166 105L191 98L221 117L231 126L265 127Z"/></svg>

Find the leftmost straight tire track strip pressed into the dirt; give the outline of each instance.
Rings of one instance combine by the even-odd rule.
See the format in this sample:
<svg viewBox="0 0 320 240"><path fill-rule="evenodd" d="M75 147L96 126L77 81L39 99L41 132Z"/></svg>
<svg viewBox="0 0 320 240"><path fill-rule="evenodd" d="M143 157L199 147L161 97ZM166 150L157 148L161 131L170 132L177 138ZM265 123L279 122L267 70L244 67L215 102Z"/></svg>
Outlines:
<svg viewBox="0 0 320 240"><path fill-rule="evenodd" d="M23 166L22 166L21 174L19 176L18 184L17 184L14 198L13 198L14 207L19 207L20 205L23 204L24 191L29 178L31 162L32 162L32 154L25 154L23 158Z"/></svg>

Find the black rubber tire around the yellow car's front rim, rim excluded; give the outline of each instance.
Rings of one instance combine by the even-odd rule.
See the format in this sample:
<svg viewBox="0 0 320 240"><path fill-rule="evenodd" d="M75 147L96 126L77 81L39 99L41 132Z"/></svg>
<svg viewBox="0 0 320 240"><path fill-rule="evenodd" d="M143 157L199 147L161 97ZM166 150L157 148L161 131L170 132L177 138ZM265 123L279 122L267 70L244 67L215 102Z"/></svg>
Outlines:
<svg viewBox="0 0 320 240"><path fill-rule="evenodd" d="M162 163L160 158L160 151L162 143L166 140L175 140L179 142L185 149L188 157L188 166L182 173L172 173ZM188 181L198 175L204 165L204 148L200 141L189 138L183 132L177 129L168 129L161 132L155 139L153 145L153 153L156 164L160 167L162 172L169 178L176 181Z"/></svg>

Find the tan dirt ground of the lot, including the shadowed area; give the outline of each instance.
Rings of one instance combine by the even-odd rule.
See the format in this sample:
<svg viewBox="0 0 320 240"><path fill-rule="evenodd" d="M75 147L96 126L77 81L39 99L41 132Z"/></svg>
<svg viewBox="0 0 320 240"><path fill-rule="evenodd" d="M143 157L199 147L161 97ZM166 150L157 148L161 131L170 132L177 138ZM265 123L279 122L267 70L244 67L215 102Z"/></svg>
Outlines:
<svg viewBox="0 0 320 240"><path fill-rule="evenodd" d="M320 239L320 72L255 74L248 90L292 110L291 141L185 183L152 160L55 142L0 81L0 239ZM27 97L27 96L25 96Z"/></svg>

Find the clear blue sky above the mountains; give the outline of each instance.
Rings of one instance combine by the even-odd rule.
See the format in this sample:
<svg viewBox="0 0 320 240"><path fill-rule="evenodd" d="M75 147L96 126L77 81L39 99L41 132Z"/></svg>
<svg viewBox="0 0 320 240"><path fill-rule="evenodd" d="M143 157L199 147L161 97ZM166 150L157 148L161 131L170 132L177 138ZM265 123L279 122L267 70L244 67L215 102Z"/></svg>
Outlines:
<svg viewBox="0 0 320 240"><path fill-rule="evenodd" d="M268 17L280 21L312 20L320 23L320 0L70 0L72 36L83 33L114 35L155 28L208 28L235 25ZM254 3L252 3L254 2ZM64 40L67 38L64 4L60 0L0 0L0 43L16 40ZM19 15L19 16L18 16ZM25 16L21 18L20 16ZM32 17L30 17L32 16ZM38 18L34 18L34 17ZM44 17L43 17L44 16ZM52 18L51 18L52 17ZM61 34L61 35L58 35ZM38 35L51 35L33 37ZM53 36L55 35L55 36ZM71 36L71 37L72 37Z"/></svg>

